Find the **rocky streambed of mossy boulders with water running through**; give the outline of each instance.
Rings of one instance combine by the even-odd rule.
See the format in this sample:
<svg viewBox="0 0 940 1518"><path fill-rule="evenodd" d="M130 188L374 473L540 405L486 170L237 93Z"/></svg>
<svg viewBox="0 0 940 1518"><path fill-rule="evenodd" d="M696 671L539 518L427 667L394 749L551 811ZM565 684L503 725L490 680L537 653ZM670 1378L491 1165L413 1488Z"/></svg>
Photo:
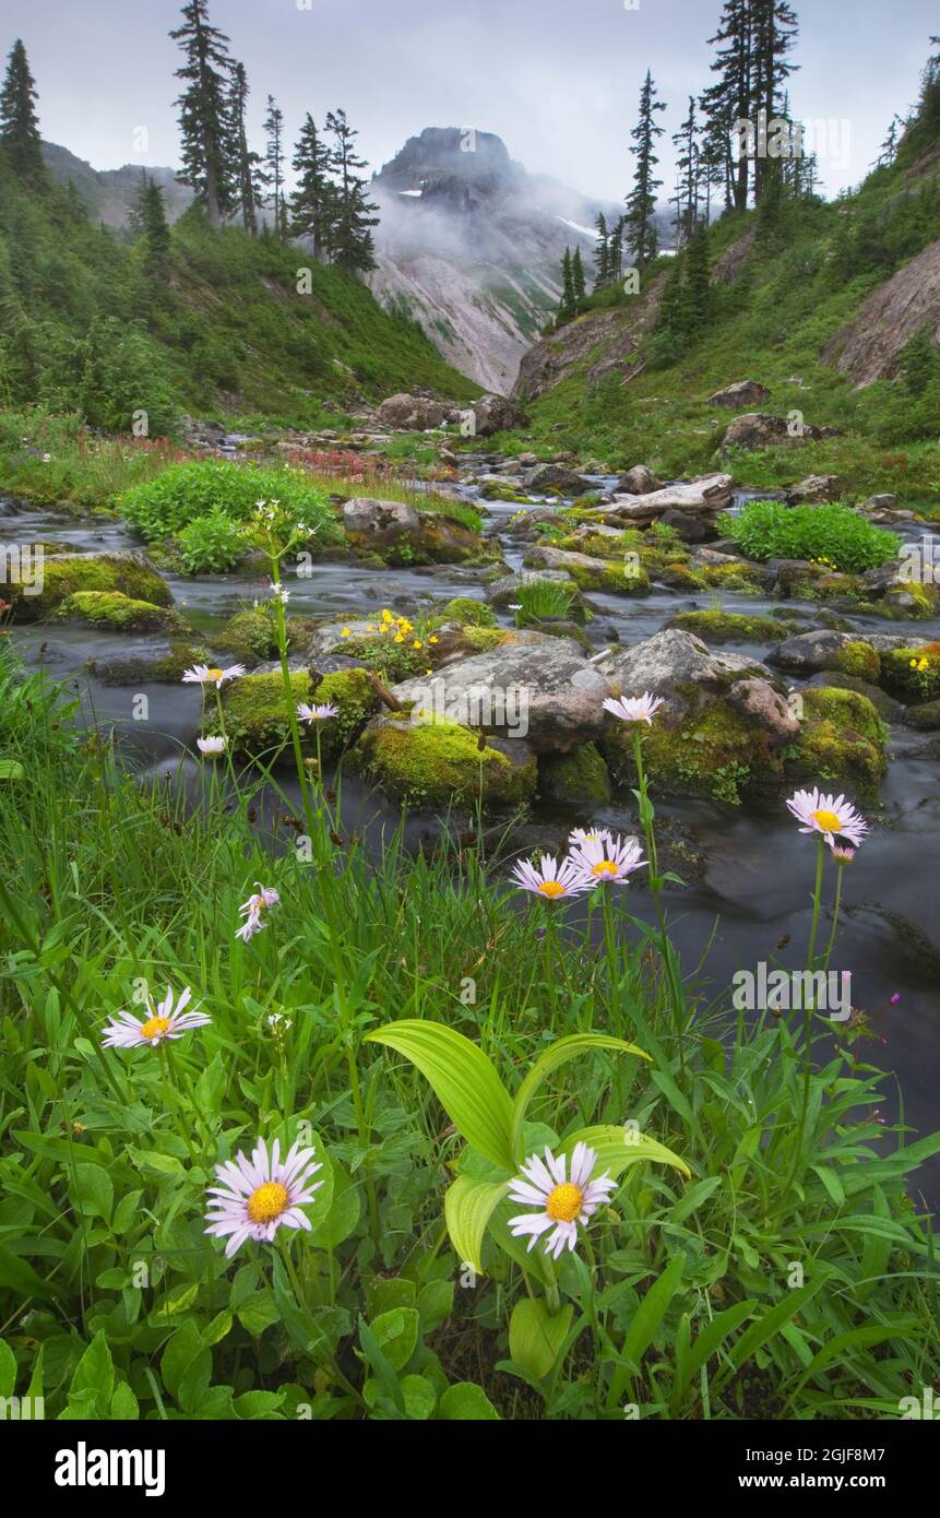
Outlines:
<svg viewBox="0 0 940 1518"><path fill-rule="evenodd" d="M440 550L462 562L408 562L413 513L360 504L346 509L354 557L285 572L298 698L336 700L343 712L333 733L323 729L325 767L349 750L343 826L378 846L407 802L407 836L421 846L437 835L442 809L460 829L483 795L494 838L507 809L527 808L510 839L516 853L556 850L571 826L588 823L633 833L632 759L603 698L655 691L665 707L647 756L668 862L686 880L673 896L686 968L712 934L703 984L726 987L735 968L771 958L800 967L812 850L782 797L817 782L847 791L875 826L847 871L834 967L852 968L853 1002L887 1040L872 1050L897 1070L907 1120L935 1125L932 587L894 571L844 577L744 560L715 536L720 513L746 499L727 477L670 484L648 471L585 475L478 454L460 457L453 490L486 513L480 553L457 530L453 554ZM27 607L24 621L20 606L12 636L26 662L74 682L84 720L114 727L143 774L199 791L193 742L213 716L179 679L197 656L252 671L226 697L240 761L276 747L282 692L264 644L270 586L258 565L190 578L155 569L120 522L9 499L0 513L5 542L43 543L47 583L61 580L41 619ZM925 534L897 502L873 502L869 515L911 540ZM76 591L68 565L88 556L111 569L100 589ZM90 583L87 571L79 578ZM563 615L550 606L518 627L533 578L562 587ZM112 594L125 625L100 600ZM407 628L398 645L396 628ZM374 654L381 638L395 656L386 662ZM390 703L375 692L377 669ZM421 710L437 721L416 721ZM484 751L477 732L487 735ZM287 770L279 782L296 800ZM273 795L263 808L272 827L282 812ZM642 890L632 908L645 914Z"/></svg>

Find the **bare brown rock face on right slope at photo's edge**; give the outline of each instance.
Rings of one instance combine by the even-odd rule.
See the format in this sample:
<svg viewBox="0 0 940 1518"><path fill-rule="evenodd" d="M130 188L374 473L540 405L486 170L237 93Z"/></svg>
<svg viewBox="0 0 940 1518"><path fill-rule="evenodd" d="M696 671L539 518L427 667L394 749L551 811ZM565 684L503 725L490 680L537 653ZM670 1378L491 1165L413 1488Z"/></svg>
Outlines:
<svg viewBox="0 0 940 1518"><path fill-rule="evenodd" d="M940 348L940 241L899 269L823 348L823 363L858 384L893 378L911 337L928 326Z"/></svg>

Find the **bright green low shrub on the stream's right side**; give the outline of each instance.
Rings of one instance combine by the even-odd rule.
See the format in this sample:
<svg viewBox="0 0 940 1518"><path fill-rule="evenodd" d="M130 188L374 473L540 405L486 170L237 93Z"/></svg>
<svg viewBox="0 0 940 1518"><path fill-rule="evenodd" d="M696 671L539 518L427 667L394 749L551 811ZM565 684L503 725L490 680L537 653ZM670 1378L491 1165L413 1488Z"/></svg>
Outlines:
<svg viewBox="0 0 940 1518"><path fill-rule="evenodd" d="M727 519L727 534L749 559L820 559L834 569L860 574L897 557L899 539L850 507L784 505L750 501Z"/></svg>

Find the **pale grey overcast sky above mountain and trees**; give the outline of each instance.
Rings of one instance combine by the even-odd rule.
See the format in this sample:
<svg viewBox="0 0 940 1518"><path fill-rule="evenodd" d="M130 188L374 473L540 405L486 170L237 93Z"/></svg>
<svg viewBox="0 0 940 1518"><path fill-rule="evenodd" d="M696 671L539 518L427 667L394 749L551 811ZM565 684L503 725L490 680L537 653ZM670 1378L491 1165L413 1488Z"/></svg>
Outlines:
<svg viewBox="0 0 940 1518"><path fill-rule="evenodd" d="M629 6L636 5L635 9ZM916 100L937 0L794 0L794 112L840 123L828 193L858 182L894 111ZM372 167L424 126L475 126L530 170L618 200L647 67L677 131L709 80L720 0L213 0L252 88L260 135L275 94L293 141L305 111L343 106ZM26 43L43 135L96 168L178 164L173 0L2 0L0 49ZM850 155L846 152L849 123ZM135 152L146 128L149 152ZM664 194L673 150L662 138Z"/></svg>

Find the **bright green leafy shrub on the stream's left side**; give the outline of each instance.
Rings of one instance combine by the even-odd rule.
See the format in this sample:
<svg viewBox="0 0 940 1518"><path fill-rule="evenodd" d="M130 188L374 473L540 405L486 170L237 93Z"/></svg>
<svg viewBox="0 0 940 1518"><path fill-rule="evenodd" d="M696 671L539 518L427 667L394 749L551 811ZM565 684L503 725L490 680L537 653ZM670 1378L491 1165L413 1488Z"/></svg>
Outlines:
<svg viewBox="0 0 940 1518"><path fill-rule="evenodd" d="M322 542L339 542L342 537L326 490L301 469L205 458L175 465L156 480L125 490L117 504L131 525L152 542L179 533L188 522L214 512L244 522L261 499L279 501Z"/></svg>

